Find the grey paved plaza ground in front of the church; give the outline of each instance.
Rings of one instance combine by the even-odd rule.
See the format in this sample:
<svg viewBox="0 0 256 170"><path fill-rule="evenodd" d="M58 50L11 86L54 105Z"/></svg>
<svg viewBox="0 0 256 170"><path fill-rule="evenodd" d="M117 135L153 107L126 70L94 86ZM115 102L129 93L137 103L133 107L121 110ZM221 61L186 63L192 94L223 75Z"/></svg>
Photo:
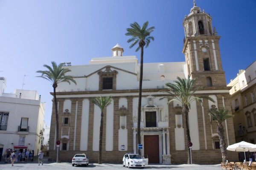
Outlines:
<svg viewBox="0 0 256 170"><path fill-rule="evenodd" d="M128 170L128 167L122 167L122 164L96 164L90 163L87 167L82 166L72 166L71 162L55 163L46 161L43 165L38 166L37 161L34 162L19 162L12 164L0 163L0 170ZM138 168L131 168L138 169ZM141 168L139 168L141 169ZM149 164L144 169L156 169L156 170L220 170L220 164L213 165L199 165L199 164Z"/></svg>

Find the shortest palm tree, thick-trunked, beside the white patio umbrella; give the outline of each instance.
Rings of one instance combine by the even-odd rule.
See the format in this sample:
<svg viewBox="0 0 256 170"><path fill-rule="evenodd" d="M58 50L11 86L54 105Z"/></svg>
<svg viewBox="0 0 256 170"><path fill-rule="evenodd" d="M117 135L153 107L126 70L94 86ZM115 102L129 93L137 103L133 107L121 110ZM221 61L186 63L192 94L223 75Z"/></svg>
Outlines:
<svg viewBox="0 0 256 170"><path fill-rule="evenodd" d="M226 162L227 148L226 148L226 142L225 142L224 127L222 126L222 122L224 122L226 119L233 118L234 116L231 114L228 114L228 110L226 110L225 108L211 109L209 111L209 115L212 116L212 120L214 120L218 124L217 133L220 139L222 161Z"/></svg>

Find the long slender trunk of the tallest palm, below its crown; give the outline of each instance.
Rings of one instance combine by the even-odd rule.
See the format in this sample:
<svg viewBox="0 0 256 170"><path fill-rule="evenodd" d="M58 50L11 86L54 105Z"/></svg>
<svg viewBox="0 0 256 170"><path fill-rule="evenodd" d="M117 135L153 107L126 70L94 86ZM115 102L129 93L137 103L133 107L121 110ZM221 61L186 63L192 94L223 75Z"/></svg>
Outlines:
<svg viewBox="0 0 256 170"><path fill-rule="evenodd" d="M138 102L138 121L137 121L137 142L141 144L140 137L140 120L141 120L141 98L142 98L142 80L143 80L143 53L144 46L140 47L140 85L139 85L139 102ZM141 155L141 150L138 150Z"/></svg>

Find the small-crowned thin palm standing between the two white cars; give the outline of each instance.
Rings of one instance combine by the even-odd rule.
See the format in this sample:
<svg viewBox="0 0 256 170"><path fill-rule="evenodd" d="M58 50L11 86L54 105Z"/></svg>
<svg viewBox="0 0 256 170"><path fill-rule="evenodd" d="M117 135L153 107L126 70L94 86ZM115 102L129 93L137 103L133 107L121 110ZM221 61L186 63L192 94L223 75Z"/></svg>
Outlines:
<svg viewBox="0 0 256 170"><path fill-rule="evenodd" d="M99 127L99 157L98 157L98 164L102 164L102 135L103 135L103 111L105 108L108 107L108 105L111 104L112 97L106 96L106 97L95 97L93 99L93 103L97 106L99 106L101 110L101 119L100 119L100 127Z"/></svg>

